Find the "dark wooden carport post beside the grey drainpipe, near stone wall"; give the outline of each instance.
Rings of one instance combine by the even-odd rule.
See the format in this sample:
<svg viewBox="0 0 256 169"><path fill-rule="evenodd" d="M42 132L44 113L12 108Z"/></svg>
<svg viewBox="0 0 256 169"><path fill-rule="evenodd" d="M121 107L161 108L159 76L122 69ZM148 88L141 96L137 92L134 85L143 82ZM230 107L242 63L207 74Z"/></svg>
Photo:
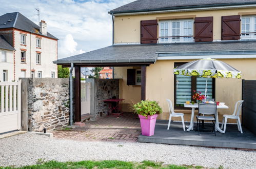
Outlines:
<svg viewBox="0 0 256 169"><path fill-rule="evenodd" d="M75 123L74 125L84 126L81 122L81 71L80 66L75 67Z"/></svg>

